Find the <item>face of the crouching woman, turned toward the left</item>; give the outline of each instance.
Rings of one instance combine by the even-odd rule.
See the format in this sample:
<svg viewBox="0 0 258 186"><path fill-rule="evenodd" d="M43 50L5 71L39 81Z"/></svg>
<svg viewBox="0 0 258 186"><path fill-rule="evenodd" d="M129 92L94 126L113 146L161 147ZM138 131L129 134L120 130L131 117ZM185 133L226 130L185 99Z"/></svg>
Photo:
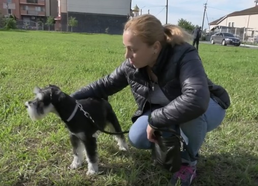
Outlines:
<svg viewBox="0 0 258 186"><path fill-rule="evenodd" d="M157 53L159 52L157 43L149 46L131 31L124 31L123 44L126 48L125 58L129 59L135 68L142 68L147 65L151 66L155 63Z"/></svg>

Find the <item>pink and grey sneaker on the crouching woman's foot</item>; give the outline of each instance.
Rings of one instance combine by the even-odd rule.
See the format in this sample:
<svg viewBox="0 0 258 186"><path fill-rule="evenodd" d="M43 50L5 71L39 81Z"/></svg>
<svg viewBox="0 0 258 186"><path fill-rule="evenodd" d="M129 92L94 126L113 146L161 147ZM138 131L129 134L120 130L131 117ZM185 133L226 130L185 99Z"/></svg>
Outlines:
<svg viewBox="0 0 258 186"><path fill-rule="evenodd" d="M188 165L182 165L180 170L172 176L172 178L170 179L170 183L172 185L190 186L192 180L195 177L196 166L190 167Z"/></svg>

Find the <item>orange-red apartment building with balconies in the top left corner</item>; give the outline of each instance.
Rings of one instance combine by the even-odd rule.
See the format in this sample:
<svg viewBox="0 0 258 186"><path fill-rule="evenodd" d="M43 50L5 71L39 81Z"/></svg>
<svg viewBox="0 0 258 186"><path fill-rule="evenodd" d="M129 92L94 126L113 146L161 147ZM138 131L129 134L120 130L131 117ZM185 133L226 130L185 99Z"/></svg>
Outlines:
<svg viewBox="0 0 258 186"><path fill-rule="evenodd" d="M0 0L0 4L3 15L15 15L24 24L45 22L47 17L58 15L57 0Z"/></svg>

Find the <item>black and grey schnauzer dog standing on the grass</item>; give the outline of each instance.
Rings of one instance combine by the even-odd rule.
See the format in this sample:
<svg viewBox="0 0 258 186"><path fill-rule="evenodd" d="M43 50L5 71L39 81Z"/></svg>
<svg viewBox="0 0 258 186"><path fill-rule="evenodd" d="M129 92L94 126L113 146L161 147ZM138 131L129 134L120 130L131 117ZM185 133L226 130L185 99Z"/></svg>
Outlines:
<svg viewBox="0 0 258 186"><path fill-rule="evenodd" d="M116 114L107 100L96 98L76 100L54 85L42 89L36 87L34 93L35 99L25 103L29 117L32 120L40 120L48 113L54 113L66 123L70 131L74 155L71 169L82 166L86 150L87 175L98 173L96 132L99 130L106 132L104 129L107 126L111 131L110 134L115 132L119 149L128 149L123 135L126 132L122 132Z"/></svg>

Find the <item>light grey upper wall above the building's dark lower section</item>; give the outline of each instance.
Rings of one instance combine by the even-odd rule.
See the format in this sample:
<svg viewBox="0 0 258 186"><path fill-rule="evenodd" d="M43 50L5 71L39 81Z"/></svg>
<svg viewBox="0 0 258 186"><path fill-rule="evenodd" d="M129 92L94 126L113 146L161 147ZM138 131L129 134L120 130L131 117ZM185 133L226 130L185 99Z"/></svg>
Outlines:
<svg viewBox="0 0 258 186"><path fill-rule="evenodd" d="M68 12L127 16L131 8L131 0L67 0L67 2Z"/></svg>

